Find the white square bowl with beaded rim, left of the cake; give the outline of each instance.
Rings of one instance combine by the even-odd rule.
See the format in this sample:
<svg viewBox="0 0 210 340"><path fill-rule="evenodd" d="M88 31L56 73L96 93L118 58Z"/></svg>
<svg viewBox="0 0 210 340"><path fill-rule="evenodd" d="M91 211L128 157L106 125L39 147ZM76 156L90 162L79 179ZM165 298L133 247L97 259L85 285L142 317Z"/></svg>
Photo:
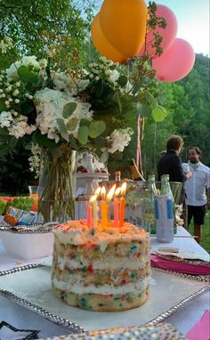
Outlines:
<svg viewBox="0 0 210 340"><path fill-rule="evenodd" d="M23 260L34 260L52 255L53 233L46 231L15 231L12 228L0 228L0 238L5 250Z"/></svg>

